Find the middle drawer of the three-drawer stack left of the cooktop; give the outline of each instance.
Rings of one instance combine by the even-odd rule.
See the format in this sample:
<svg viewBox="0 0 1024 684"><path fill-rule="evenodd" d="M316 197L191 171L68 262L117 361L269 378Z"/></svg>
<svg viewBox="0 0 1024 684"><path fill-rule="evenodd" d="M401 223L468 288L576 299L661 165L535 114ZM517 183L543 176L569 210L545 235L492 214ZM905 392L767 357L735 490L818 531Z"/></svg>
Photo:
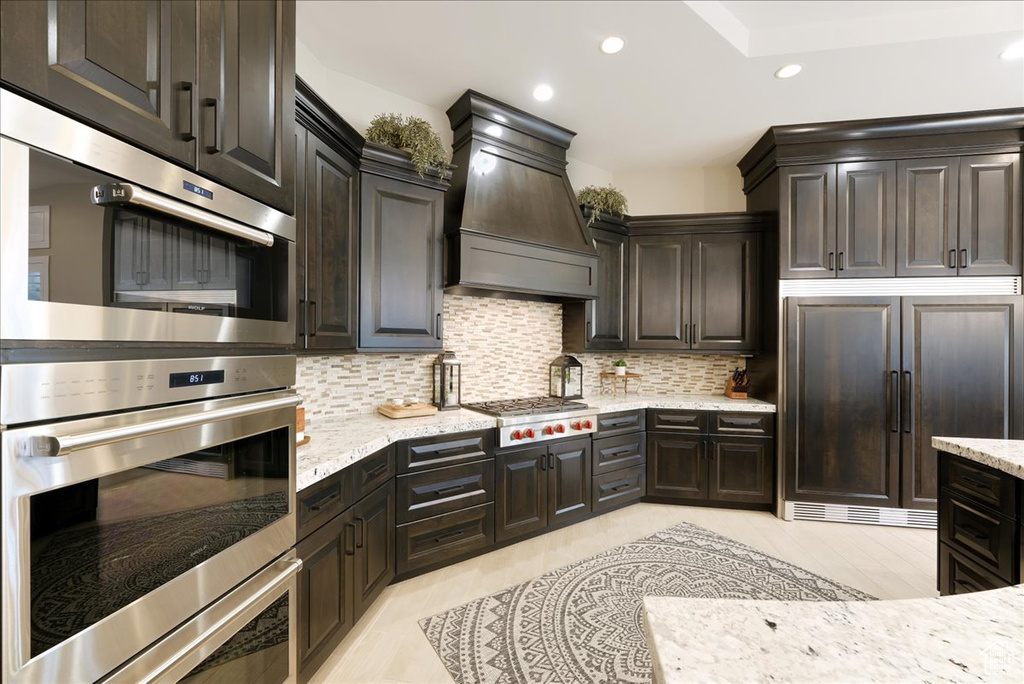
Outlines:
<svg viewBox="0 0 1024 684"><path fill-rule="evenodd" d="M398 476L398 524L495 500L493 460Z"/></svg>

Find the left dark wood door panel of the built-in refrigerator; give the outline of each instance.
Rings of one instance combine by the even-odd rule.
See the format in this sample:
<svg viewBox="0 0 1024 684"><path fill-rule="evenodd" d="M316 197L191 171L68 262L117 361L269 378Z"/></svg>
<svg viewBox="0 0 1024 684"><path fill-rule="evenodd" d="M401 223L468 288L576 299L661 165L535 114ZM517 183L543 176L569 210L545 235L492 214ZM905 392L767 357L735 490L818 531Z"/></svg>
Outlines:
<svg viewBox="0 0 1024 684"><path fill-rule="evenodd" d="M785 498L897 506L899 298L790 298L785 314Z"/></svg>

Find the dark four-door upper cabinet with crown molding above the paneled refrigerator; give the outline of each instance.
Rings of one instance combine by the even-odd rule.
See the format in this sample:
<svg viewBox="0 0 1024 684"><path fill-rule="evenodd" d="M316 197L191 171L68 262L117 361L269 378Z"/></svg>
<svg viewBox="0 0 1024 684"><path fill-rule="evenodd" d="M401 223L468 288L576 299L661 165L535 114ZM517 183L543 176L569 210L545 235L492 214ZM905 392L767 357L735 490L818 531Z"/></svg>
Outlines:
<svg viewBox="0 0 1024 684"><path fill-rule="evenodd" d="M1019 109L775 126L738 166L782 279L1020 275L1022 130Z"/></svg>

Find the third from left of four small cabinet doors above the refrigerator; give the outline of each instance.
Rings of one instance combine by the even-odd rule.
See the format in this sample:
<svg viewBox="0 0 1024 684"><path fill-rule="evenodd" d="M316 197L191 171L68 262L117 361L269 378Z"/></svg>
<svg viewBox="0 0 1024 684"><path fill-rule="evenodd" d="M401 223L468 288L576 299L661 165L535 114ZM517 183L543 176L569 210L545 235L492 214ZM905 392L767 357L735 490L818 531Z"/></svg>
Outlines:
<svg viewBox="0 0 1024 684"><path fill-rule="evenodd" d="M896 164L896 274L956 274L959 160Z"/></svg>

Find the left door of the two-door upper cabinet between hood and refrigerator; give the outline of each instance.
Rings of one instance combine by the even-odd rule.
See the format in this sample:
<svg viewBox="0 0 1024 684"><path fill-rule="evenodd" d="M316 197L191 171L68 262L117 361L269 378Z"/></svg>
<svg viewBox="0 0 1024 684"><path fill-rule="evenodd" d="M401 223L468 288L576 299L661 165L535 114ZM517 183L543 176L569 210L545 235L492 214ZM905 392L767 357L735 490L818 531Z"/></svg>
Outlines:
<svg viewBox="0 0 1024 684"><path fill-rule="evenodd" d="M631 349L689 349L690 239L630 240Z"/></svg>

